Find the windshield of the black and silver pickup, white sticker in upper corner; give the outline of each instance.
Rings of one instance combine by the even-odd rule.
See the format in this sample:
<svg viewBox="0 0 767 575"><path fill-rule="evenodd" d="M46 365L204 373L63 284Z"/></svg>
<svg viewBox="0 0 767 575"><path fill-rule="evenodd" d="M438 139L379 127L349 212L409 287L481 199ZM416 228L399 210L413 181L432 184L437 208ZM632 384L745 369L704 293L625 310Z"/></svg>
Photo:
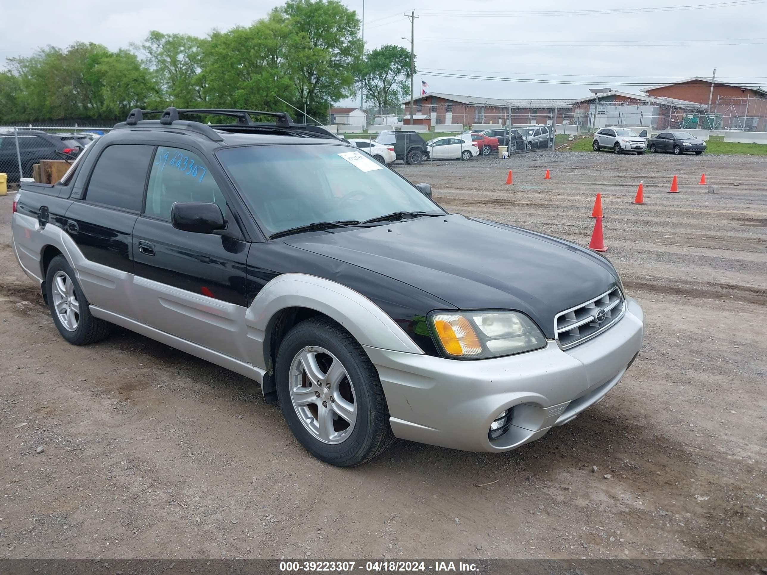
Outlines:
<svg viewBox="0 0 767 575"><path fill-rule="evenodd" d="M444 213L406 179L349 146L245 146L222 149L218 157L266 235L392 212Z"/></svg>

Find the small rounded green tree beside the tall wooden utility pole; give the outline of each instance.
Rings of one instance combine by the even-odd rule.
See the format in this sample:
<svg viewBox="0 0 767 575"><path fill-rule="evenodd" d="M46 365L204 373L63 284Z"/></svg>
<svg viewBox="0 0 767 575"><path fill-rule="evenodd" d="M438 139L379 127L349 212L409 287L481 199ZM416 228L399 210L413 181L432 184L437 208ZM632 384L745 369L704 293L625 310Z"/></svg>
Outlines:
<svg viewBox="0 0 767 575"><path fill-rule="evenodd" d="M384 44L368 52L360 81L368 100L378 106L399 105L410 96L410 50L394 44Z"/></svg>

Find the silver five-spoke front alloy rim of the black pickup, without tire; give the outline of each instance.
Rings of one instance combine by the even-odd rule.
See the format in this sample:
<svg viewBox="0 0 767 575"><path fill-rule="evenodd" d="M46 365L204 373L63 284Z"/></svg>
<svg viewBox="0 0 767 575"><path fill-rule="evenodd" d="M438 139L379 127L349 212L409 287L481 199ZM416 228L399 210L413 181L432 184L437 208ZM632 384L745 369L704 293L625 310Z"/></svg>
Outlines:
<svg viewBox="0 0 767 575"><path fill-rule="evenodd" d="M357 422L357 402L337 357L322 347L304 347L291 362L288 384L298 419L315 439L329 444L348 439Z"/></svg>

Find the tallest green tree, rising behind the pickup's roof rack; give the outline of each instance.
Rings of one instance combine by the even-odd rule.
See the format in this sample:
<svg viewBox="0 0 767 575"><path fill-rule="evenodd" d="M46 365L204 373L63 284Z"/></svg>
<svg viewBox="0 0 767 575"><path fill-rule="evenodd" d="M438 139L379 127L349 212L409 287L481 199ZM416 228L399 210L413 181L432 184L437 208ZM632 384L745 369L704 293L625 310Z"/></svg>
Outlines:
<svg viewBox="0 0 767 575"><path fill-rule="evenodd" d="M337 0L288 0L270 20L281 20L288 30L282 71L293 94L284 100L325 117L331 102L354 94L362 54L356 12Z"/></svg>

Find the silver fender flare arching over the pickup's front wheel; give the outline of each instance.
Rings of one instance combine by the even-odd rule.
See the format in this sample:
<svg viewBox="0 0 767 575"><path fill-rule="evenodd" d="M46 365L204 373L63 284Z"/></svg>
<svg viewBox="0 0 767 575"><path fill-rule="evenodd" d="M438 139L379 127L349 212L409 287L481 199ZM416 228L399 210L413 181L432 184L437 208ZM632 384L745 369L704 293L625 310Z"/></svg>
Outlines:
<svg viewBox="0 0 767 575"><path fill-rule="evenodd" d="M245 313L248 337L258 341L252 362L269 369L273 318L288 307L307 307L341 324L361 345L419 353L423 350L380 307L335 281L309 274L281 274L269 281Z"/></svg>

